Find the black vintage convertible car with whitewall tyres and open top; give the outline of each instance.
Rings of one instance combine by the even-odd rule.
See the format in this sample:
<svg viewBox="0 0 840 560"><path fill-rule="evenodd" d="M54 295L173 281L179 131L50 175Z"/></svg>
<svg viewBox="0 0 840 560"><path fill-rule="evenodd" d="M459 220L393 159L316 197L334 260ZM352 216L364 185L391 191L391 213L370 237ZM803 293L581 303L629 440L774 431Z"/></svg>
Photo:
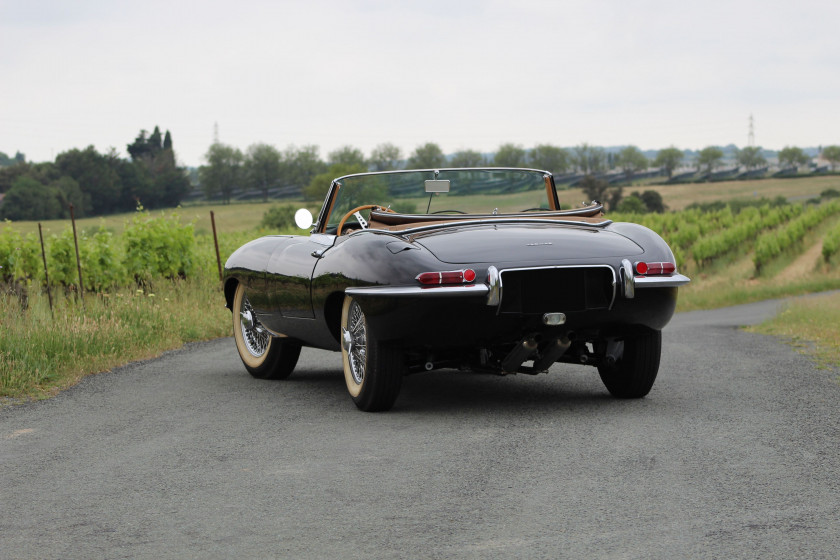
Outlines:
<svg viewBox="0 0 840 560"><path fill-rule="evenodd" d="M405 375L500 375L555 362L597 368L618 398L648 394L677 273L653 231L601 204L561 210L551 173L439 169L332 181L308 235L236 250L224 294L254 377L285 378L302 346L340 351L365 411L391 408Z"/></svg>

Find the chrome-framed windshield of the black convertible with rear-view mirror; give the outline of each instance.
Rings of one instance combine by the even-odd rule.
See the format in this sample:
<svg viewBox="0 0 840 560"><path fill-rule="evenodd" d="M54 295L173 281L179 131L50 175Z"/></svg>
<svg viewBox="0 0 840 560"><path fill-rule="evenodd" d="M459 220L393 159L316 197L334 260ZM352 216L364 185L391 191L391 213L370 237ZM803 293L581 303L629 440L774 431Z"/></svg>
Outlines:
<svg viewBox="0 0 840 560"><path fill-rule="evenodd" d="M529 169L442 169L349 175L337 180L326 230L354 208L375 204L401 214L513 214L555 207L550 177ZM434 181L426 191L426 181ZM446 185L442 181L448 181ZM553 183L551 183L553 187ZM329 203L329 201L328 201ZM363 212L366 216L367 211ZM323 216L322 216L323 218ZM355 220L355 218L350 218Z"/></svg>

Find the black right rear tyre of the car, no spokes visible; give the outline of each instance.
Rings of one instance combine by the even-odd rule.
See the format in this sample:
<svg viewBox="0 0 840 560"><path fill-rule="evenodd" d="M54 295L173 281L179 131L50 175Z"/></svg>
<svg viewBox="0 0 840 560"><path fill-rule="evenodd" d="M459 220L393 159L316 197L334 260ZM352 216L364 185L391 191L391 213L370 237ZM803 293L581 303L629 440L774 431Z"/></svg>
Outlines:
<svg viewBox="0 0 840 560"><path fill-rule="evenodd" d="M624 354L611 366L598 367L601 381L614 397L638 399L653 387L659 373L662 331L646 331L624 339Z"/></svg>

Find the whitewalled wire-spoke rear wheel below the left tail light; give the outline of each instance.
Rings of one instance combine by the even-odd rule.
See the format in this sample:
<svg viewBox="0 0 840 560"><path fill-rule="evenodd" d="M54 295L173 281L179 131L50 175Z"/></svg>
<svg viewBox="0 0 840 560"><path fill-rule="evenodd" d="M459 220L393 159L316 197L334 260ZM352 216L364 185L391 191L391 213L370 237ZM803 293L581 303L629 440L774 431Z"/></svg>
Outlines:
<svg viewBox="0 0 840 560"><path fill-rule="evenodd" d="M344 297L341 309L341 357L347 391L360 410L378 412L394 405L405 368L403 353L376 339L352 296Z"/></svg>

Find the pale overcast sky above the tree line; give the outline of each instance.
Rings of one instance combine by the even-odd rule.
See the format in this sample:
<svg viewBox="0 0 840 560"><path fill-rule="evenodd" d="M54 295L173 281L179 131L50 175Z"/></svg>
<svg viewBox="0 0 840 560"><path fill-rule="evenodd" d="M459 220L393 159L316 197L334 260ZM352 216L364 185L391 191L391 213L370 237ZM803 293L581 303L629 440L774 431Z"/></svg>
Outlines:
<svg viewBox="0 0 840 560"><path fill-rule="evenodd" d="M0 151L840 144L840 2L0 0Z"/></svg>

